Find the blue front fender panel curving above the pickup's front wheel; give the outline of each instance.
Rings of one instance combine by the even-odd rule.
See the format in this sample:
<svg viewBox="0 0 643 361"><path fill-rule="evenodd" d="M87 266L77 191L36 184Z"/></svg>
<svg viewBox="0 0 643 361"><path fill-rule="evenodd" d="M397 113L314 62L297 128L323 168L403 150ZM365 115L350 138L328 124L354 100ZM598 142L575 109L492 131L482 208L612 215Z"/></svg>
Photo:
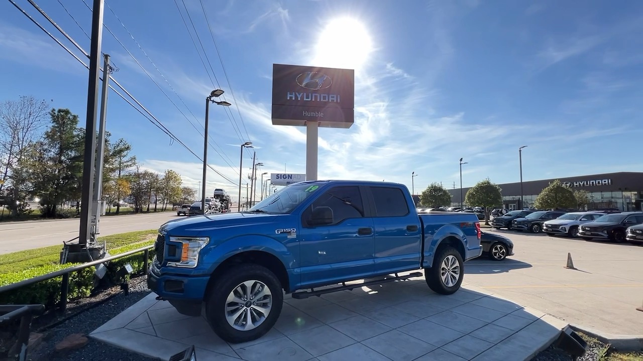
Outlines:
<svg viewBox="0 0 643 361"><path fill-rule="evenodd" d="M215 257L209 269L210 274L212 274L222 262L228 260L228 258L235 256L235 254L248 251L260 251L272 254L282 262L286 270L295 267L296 260L294 255L283 243L277 242L267 236L252 234L230 238L217 245L212 252L212 256Z"/></svg>

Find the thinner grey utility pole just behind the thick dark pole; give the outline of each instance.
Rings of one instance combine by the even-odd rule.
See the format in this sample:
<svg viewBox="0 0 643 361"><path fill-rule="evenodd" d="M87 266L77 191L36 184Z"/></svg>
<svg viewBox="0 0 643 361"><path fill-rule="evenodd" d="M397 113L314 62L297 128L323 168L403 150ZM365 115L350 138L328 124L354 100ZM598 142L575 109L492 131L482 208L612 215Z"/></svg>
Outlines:
<svg viewBox="0 0 643 361"><path fill-rule="evenodd" d="M107 119L107 92L109 92L109 55L105 54L103 63L103 87L100 100L100 121L98 122L98 148L96 149L96 175L94 177L94 197L92 202L92 236L100 234L100 216L103 213L103 167L105 160L105 121Z"/></svg>

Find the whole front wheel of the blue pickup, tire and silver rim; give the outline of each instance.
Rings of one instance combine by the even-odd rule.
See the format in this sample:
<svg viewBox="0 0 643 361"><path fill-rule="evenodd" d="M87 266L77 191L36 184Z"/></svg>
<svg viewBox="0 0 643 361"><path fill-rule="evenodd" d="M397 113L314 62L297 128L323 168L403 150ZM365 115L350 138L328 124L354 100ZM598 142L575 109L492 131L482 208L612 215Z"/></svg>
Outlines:
<svg viewBox="0 0 643 361"><path fill-rule="evenodd" d="M222 340L238 344L262 337L279 318L282 286L273 272L243 264L218 276L206 294L206 319Z"/></svg>

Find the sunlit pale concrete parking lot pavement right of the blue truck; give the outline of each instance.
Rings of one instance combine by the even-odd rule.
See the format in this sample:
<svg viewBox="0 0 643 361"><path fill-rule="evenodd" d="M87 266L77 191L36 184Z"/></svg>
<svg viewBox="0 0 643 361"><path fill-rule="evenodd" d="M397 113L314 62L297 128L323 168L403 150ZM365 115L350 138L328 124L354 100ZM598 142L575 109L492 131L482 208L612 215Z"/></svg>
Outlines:
<svg viewBox="0 0 643 361"><path fill-rule="evenodd" d="M643 335L643 247L484 229L514 242L514 256L467 262L465 280L570 324ZM565 269L567 253L576 270Z"/></svg>

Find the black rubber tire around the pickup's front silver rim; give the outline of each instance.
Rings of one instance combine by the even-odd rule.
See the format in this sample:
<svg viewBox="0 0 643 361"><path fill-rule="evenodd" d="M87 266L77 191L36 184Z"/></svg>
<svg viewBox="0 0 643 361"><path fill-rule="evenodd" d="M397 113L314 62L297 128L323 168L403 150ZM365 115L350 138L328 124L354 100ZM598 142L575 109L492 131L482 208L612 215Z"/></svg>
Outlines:
<svg viewBox="0 0 643 361"><path fill-rule="evenodd" d="M241 331L233 328L226 319L226 301L235 288L239 287L246 281L259 281L269 289L272 296L271 310L266 319L257 327L249 331ZM216 282L206 294L205 313L208 323L212 330L221 337L222 340L238 344L256 340L270 331L279 318L284 303L284 293L281 283L266 267L253 264L242 264L231 269L219 276ZM241 306L243 308L244 306ZM242 313L243 315L243 313Z"/></svg>

